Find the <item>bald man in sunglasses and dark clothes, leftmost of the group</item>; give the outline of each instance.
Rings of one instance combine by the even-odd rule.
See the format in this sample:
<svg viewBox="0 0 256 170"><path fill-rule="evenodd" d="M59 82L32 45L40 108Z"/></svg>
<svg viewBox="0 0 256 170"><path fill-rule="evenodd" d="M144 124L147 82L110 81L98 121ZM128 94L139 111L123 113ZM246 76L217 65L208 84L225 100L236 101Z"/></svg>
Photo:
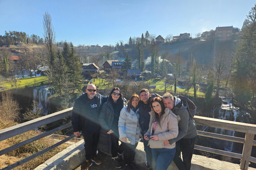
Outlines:
<svg viewBox="0 0 256 170"><path fill-rule="evenodd" d="M71 123L74 134L79 137L80 131L84 137L85 163L81 169L89 169L94 162L97 165L102 164L97 159L97 145L100 136L100 125L98 122L101 106L107 101L108 96L102 96L97 93L94 84L89 84L86 93L75 100L72 111Z"/></svg>

